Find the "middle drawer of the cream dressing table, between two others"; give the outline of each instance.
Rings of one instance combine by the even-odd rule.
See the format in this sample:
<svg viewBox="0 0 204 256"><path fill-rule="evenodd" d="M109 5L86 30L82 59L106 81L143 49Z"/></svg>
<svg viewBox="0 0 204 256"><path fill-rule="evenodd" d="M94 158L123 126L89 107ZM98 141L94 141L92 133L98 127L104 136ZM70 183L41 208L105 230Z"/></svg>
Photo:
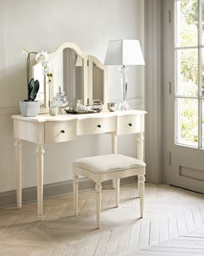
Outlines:
<svg viewBox="0 0 204 256"><path fill-rule="evenodd" d="M79 120L78 135L96 135L116 131L116 117Z"/></svg>

